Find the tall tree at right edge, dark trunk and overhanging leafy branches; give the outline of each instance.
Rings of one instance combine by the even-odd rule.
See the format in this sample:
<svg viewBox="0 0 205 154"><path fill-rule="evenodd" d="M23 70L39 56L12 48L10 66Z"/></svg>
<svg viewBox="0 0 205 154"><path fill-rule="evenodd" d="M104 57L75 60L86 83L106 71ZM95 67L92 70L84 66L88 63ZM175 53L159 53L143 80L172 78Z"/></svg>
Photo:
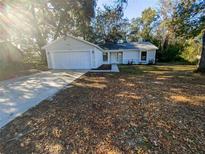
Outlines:
<svg viewBox="0 0 205 154"><path fill-rule="evenodd" d="M205 72L205 1L186 0L181 1L175 13L173 24L175 32L185 38L193 38L200 33L202 37L202 52L198 71Z"/></svg>

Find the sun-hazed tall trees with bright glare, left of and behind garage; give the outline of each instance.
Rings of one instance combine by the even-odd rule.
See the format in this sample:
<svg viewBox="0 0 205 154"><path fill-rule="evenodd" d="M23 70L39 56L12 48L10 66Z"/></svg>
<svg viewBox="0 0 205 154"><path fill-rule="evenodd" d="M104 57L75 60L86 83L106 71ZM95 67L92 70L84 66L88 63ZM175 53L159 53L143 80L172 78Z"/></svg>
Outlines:
<svg viewBox="0 0 205 154"><path fill-rule="evenodd" d="M49 40L89 35L96 0L4 0L2 6L0 25L8 39L26 52L36 51L45 62L41 48Z"/></svg>

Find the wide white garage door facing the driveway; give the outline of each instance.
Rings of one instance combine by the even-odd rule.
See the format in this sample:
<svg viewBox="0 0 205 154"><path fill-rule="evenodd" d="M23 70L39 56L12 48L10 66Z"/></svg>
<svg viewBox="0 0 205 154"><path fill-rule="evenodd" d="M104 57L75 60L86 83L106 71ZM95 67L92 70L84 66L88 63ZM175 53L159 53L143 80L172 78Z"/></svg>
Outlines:
<svg viewBox="0 0 205 154"><path fill-rule="evenodd" d="M51 53L54 69L90 69L89 51L68 51Z"/></svg>

